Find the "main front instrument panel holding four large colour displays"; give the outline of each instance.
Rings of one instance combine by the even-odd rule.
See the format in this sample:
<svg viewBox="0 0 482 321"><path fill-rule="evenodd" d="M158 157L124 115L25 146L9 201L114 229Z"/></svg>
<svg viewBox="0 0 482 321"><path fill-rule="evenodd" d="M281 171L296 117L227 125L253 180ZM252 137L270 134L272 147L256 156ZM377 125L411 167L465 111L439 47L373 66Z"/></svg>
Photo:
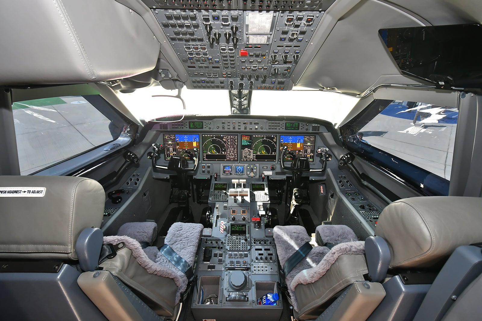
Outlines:
<svg viewBox="0 0 482 321"><path fill-rule="evenodd" d="M295 118L295 117L294 117ZM283 178L291 172L281 168L281 149L289 147L285 161L293 156L305 156L311 168L321 168L317 150L323 147L320 133L328 132L323 125L292 120L262 118L194 118L188 116L179 122L156 123L153 130L161 131L158 143L164 148L164 157L156 160L167 165L172 155L187 158L192 165L192 148L199 148L199 168L192 175L208 178ZM309 174L320 178L325 173ZM166 171L153 171L156 178L169 177Z"/></svg>

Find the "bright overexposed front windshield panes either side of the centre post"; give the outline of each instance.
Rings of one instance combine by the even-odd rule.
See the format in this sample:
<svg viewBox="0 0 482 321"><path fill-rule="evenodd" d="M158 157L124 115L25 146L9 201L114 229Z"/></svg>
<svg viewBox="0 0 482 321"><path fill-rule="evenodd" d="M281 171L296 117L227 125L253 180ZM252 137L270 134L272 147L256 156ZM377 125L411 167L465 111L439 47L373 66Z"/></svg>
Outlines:
<svg viewBox="0 0 482 321"><path fill-rule="evenodd" d="M181 110L172 110L162 105L161 97L175 96L177 90L165 90L161 86L135 90L119 97L140 119L154 119L177 115ZM230 114L228 90L189 90L183 88L181 97L186 103L186 115L223 116ZM336 127L358 102L358 98L336 92L320 90L253 91L251 115L258 116L310 116L327 120Z"/></svg>

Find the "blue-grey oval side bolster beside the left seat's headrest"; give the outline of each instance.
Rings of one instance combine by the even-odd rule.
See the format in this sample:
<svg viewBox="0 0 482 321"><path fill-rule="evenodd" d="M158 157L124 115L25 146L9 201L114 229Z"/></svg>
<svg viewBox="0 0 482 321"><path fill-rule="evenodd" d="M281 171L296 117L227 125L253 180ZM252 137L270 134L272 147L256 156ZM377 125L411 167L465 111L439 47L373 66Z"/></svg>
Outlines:
<svg viewBox="0 0 482 321"><path fill-rule="evenodd" d="M99 228L85 228L80 232L75 249L82 271L93 271L99 263L104 235Z"/></svg>

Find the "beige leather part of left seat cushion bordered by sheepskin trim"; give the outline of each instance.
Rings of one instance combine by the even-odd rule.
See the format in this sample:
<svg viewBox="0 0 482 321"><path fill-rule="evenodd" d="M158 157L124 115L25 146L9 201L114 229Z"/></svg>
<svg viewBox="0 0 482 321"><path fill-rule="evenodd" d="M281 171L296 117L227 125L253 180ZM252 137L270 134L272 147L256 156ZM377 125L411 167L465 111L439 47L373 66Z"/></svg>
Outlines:
<svg viewBox="0 0 482 321"><path fill-rule="evenodd" d="M124 247L118 250L114 258L99 266L117 276L141 299L144 296L154 301L156 305L149 304L149 300L143 300L158 315L173 316L177 285L173 279L147 273L132 256L130 249Z"/></svg>

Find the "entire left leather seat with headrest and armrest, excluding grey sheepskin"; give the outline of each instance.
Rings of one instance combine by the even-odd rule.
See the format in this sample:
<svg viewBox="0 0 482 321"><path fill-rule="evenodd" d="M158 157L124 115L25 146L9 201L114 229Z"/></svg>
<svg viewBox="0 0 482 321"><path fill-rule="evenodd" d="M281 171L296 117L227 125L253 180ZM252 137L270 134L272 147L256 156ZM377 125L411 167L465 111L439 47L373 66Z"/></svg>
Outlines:
<svg viewBox="0 0 482 321"><path fill-rule="evenodd" d="M2 318L158 320L177 313L176 272L169 266L157 269L172 278L149 273L136 253L116 242L114 255L98 264L104 205L95 180L0 176Z"/></svg>

